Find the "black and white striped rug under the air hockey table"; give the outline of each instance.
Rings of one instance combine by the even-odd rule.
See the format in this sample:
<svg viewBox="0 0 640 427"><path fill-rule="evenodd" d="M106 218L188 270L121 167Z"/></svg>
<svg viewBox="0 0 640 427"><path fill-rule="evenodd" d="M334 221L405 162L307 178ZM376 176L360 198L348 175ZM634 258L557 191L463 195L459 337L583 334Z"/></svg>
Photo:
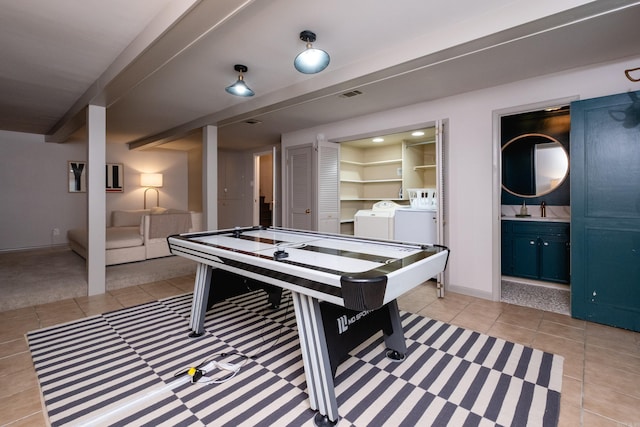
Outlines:
<svg viewBox="0 0 640 427"><path fill-rule="evenodd" d="M27 334L51 425L313 425L292 304L231 298L198 339L190 307L187 294ZM374 336L338 368L339 426L557 424L562 357L401 314L403 362ZM174 376L208 360L242 367Z"/></svg>

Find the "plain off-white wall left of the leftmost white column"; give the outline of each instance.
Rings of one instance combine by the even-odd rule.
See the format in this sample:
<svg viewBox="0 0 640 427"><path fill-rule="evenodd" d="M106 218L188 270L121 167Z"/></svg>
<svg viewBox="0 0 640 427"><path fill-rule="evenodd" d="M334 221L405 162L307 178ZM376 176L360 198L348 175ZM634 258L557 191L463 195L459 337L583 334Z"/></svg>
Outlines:
<svg viewBox="0 0 640 427"><path fill-rule="evenodd" d="M86 159L86 151L84 144L0 131L0 250L60 244L67 229L86 224L87 193L67 191L67 161Z"/></svg>

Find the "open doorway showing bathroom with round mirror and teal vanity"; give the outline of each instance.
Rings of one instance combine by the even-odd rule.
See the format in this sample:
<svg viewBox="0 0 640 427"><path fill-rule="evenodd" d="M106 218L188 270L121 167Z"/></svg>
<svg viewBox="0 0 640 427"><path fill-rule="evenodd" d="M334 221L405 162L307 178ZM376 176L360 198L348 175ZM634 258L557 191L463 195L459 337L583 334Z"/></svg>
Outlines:
<svg viewBox="0 0 640 427"><path fill-rule="evenodd" d="M500 300L569 315L568 102L505 113L498 123Z"/></svg>

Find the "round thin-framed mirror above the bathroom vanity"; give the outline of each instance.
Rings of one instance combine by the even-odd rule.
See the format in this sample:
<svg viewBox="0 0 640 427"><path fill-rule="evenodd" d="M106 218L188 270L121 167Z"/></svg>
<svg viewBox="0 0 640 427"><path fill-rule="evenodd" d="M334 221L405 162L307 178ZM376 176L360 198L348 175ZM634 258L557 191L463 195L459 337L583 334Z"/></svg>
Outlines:
<svg viewBox="0 0 640 427"><path fill-rule="evenodd" d="M569 156L555 138L541 133L517 136L502 147L502 188L519 197L539 197L567 177Z"/></svg>

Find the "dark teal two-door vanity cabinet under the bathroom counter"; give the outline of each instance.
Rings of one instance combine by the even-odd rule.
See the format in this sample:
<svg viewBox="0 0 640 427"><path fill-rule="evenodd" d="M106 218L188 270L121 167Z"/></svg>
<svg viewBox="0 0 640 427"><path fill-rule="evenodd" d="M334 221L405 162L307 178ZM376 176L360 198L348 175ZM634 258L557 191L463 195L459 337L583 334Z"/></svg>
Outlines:
<svg viewBox="0 0 640 427"><path fill-rule="evenodd" d="M569 223L502 221L502 274L569 283Z"/></svg>

